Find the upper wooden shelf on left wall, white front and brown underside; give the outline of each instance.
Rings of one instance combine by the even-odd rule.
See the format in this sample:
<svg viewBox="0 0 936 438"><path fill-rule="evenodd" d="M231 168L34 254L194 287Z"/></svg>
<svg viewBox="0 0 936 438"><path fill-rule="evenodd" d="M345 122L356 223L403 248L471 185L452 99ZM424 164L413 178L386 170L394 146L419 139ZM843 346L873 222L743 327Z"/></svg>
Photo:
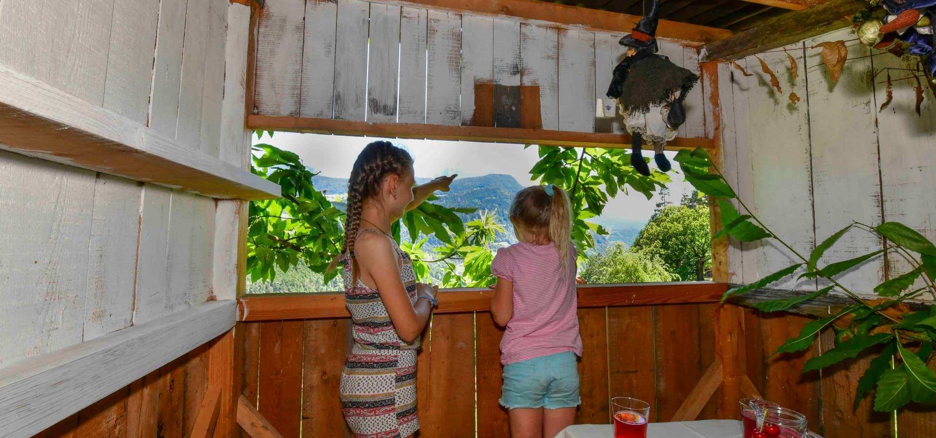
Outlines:
<svg viewBox="0 0 936 438"><path fill-rule="evenodd" d="M262 177L3 65L0 148L213 198L280 196Z"/></svg>

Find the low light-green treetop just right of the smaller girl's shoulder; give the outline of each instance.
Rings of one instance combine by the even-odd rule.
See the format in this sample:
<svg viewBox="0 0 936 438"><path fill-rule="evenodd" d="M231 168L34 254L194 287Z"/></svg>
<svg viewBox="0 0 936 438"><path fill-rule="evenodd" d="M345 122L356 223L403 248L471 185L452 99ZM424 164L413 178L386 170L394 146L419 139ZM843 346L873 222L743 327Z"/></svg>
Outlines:
<svg viewBox="0 0 936 438"><path fill-rule="evenodd" d="M628 250L618 243L607 247L604 253L589 257L579 273L586 283L646 283L679 279L669 272L659 257L640 251Z"/></svg>

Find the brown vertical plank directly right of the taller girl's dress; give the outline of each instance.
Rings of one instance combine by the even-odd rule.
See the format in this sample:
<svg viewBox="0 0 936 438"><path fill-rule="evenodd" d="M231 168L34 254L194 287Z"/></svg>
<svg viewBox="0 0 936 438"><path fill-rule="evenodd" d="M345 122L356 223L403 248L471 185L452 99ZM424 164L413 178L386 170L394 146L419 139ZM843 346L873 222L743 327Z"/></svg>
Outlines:
<svg viewBox="0 0 936 438"><path fill-rule="evenodd" d="M475 315L432 317L428 386L417 401L420 432L426 436L474 436ZM430 341L424 338L424 342ZM425 346L423 347L425 348ZM425 355L427 352L423 352ZM417 369L417 376L422 370ZM461 377L459 377L461 376ZM423 388L425 390L425 388ZM431 413L431 415L427 415Z"/></svg>

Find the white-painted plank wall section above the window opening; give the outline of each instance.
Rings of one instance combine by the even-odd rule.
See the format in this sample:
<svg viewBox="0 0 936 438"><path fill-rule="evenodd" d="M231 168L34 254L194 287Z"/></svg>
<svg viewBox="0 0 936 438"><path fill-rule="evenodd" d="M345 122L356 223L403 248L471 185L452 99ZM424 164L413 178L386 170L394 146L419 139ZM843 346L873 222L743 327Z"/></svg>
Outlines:
<svg viewBox="0 0 936 438"><path fill-rule="evenodd" d="M482 101L494 108L475 107L475 89L523 85L539 87L544 129L620 133L620 117L594 114L621 61L621 36L363 0L271 2L257 31L254 113L519 127L509 114L496 121L490 96ZM660 52L698 71L696 49L662 41ZM507 107L518 104L505 98ZM700 87L686 109L680 136L705 137Z"/></svg>

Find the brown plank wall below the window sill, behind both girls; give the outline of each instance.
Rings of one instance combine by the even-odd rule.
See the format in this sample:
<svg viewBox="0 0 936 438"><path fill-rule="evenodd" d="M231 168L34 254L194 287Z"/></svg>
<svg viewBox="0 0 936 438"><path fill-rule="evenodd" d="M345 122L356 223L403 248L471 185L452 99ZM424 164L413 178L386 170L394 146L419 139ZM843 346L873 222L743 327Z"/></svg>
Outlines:
<svg viewBox="0 0 936 438"><path fill-rule="evenodd" d="M672 417L714 360L714 304L579 309L579 423L608 423L611 396ZM348 436L338 389L352 344L347 318L238 323L241 393L285 437ZM435 315L417 360L423 436L505 437L499 345L488 312ZM452 378L459 376L459 378ZM476 412L476 421L475 421ZM701 417L714 417L714 405Z"/></svg>

